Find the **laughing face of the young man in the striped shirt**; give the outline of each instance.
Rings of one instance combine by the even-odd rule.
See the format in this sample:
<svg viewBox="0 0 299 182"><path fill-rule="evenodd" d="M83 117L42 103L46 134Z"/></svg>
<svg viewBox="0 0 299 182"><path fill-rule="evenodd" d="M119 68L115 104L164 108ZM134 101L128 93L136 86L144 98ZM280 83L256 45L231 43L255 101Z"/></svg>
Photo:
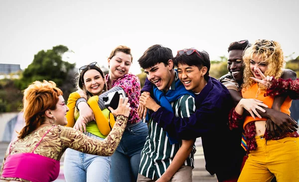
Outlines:
<svg viewBox="0 0 299 182"><path fill-rule="evenodd" d="M166 92L174 80L172 67L173 62L169 60L166 66L164 63L158 63L153 67L146 68L145 73L147 74L148 80L153 83L158 90Z"/></svg>

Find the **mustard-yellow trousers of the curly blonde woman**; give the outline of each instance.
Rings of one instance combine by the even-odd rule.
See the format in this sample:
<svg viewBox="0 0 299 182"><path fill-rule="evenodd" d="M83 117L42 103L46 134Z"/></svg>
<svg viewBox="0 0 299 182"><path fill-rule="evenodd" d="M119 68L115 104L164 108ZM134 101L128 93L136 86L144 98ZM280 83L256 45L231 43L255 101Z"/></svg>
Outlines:
<svg viewBox="0 0 299 182"><path fill-rule="evenodd" d="M255 137L257 149L250 151L238 182L299 182L299 138L265 140Z"/></svg>

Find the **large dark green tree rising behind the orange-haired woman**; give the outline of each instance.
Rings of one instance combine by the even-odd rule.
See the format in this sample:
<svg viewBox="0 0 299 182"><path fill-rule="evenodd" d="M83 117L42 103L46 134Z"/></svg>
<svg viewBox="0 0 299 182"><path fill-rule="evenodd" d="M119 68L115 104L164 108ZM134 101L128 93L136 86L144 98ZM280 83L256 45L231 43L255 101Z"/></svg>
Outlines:
<svg viewBox="0 0 299 182"><path fill-rule="evenodd" d="M53 81L61 87L67 78L67 74L75 67L75 64L62 61L62 55L69 49L58 45L50 50L39 51L34 55L32 63L24 70L21 79L15 84L20 90L24 90L28 84L34 81Z"/></svg>

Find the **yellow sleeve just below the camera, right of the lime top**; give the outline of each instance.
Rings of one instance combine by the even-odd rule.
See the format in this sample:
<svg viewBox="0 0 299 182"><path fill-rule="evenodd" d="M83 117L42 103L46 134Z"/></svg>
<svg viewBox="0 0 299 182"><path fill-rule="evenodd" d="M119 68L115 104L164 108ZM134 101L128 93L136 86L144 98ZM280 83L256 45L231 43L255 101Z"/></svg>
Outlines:
<svg viewBox="0 0 299 182"><path fill-rule="evenodd" d="M111 129L109 127L109 119L103 114L102 110L100 109L100 107L98 105L98 101L99 101L99 96L95 95L95 96L90 97L88 99L87 103L94 113L96 123L98 125L100 132L103 135L108 135L111 131ZM115 123L114 117L112 117L112 118L113 118L113 125L114 125L114 123ZM110 120L111 120L111 117L110 117ZM111 127L113 127L113 126L111 126Z"/></svg>

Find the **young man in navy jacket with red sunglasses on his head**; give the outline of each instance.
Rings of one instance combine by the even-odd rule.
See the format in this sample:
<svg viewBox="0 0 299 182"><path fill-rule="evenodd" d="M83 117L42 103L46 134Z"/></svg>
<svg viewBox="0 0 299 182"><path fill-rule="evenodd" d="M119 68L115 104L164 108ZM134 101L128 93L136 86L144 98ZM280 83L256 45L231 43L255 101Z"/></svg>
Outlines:
<svg viewBox="0 0 299 182"><path fill-rule="evenodd" d="M147 106L151 117L169 136L183 140L201 137L206 170L219 182L236 182L243 159L241 131L230 131L228 113L232 108L229 91L209 77L210 60L205 51L184 49L174 58L178 77L186 90L195 93L196 110L190 117L176 117L163 106ZM149 91L148 86L143 91ZM141 96L141 99L143 95ZM140 100L140 104L145 104Z"/></svg>

